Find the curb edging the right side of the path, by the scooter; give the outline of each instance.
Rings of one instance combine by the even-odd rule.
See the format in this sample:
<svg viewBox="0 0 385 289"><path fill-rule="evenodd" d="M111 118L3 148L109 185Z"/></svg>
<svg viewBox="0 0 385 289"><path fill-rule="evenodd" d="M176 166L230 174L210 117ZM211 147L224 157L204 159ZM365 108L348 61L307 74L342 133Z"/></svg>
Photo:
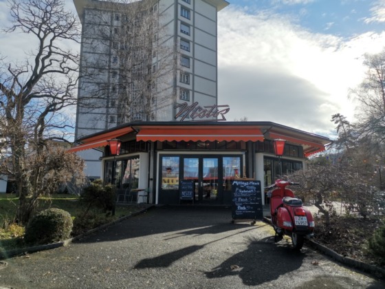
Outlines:
<svg viewBox="0 0 385 289"><path fill-rule="evenodd" d="M270 218L268 217L263 217L263 221L269 224L272 224L272 220L270 220ZM380 267L366 264L362 261L351 259L349 257L344 257L338 254L336 251L333 251L330 248L327 248L326 246L323 246L313 240L308 240L307 243L313 246L314 248L316 248L317 250L320 250L321 253L329 257L332 257L333 259L340 262L341 264L347 265L352 268L358 268L359 270L362 270L364 272L369 272L371 275L374 275L375 277L385 278L385 270Z"/></svg>

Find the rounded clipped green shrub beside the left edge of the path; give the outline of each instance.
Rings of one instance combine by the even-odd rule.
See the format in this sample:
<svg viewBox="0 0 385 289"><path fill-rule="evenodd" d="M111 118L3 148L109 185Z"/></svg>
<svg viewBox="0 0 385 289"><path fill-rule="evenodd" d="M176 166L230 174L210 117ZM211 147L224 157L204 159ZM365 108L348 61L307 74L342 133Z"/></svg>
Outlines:
<svg viewBox="0 0 385 289"><path fill-rule="evenodd" d="M72 217L60 208L41 211L25 228L26 244L50 244L68 239L72 231Z"/></svg>

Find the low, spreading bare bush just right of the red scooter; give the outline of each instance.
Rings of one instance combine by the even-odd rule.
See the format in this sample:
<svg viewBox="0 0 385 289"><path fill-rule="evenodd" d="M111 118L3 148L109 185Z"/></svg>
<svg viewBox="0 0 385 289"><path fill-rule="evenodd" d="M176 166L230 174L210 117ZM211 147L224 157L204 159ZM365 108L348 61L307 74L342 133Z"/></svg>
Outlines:
<svg viewBox="0 0 385 289"><path fill-rule="evenodd" d="M326 162L309 164L305 171L295 171L289 179L299 182L296 193L308 200L325 215L325 224L329 225L331 217L336 215L333 202L344 206L346 213L358 213L366 217L375 213L375 189L371 178L362 173L360 166L354 163Z"/></svg>

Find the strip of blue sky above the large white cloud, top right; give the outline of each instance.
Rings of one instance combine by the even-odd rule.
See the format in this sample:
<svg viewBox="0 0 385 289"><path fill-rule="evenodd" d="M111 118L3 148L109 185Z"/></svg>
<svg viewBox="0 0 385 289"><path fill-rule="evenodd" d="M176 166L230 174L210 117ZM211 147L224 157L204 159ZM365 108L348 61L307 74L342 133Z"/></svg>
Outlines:
<svg viewBox="0 0 385 289"><path fill-rule="evenodd" d="M377 2L377 4L376 4ZM373 11L384 1L371 0L230 0L231 6L255 11L282 14L311 32L328 32L338 36L361 34L368 30L379 31L382 23L374 21ZM382 4L384 7L384 4Z"/></svg>

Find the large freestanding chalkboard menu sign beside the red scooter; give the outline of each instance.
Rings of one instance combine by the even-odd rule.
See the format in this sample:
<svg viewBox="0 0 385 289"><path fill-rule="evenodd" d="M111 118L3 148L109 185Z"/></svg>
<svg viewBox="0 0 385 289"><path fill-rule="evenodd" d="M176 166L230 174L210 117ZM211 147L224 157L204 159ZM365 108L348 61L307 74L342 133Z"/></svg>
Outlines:
<svg viewBox="0 0 385 289"><path fill-rule="evenodd" d="M234 180L232 182L232 219L263 219L261 182Z"/></svg>

